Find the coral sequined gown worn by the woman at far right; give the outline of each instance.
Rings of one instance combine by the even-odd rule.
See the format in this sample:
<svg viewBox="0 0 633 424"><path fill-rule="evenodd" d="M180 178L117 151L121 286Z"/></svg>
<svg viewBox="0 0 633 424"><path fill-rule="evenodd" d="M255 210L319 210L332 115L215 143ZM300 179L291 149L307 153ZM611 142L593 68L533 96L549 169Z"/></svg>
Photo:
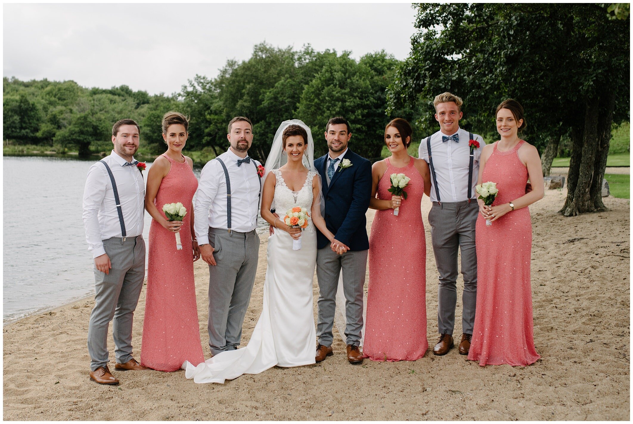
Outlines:
<svg viewBox="0 0 633 424"><path fill-rule="evenodd" d="M499 152L494 144L482 182L497 184L492 206L525 195L527 168L514 149ZM468 359L479 365L525 366L541 358L534 347L530 258L532 221L528 208L516 209L486 226L479 214L477 246L477 309Z"/></svg>

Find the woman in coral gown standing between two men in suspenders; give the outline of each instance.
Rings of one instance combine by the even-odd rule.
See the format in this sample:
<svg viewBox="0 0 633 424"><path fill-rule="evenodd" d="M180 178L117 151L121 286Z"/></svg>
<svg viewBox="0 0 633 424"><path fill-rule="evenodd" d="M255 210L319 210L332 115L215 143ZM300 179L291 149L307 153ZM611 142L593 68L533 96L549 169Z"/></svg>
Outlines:
<svg viewBox="0 0 633 424"><path fill-rule="evenodd" d="M193 162L182 155L189 120L178 112L163 116L163 139L168 146L149 169L145 208L154 218L149 228L147 297L141 364L159 371L180 370L184 361L204 362L194 284L194 261L199 249L194 237L191 200L197 189ZM182 223L168 221L163 205L182 203ZM181 225L182 224L182 225ZM176 249L180 232L182 250Z"/></svg>

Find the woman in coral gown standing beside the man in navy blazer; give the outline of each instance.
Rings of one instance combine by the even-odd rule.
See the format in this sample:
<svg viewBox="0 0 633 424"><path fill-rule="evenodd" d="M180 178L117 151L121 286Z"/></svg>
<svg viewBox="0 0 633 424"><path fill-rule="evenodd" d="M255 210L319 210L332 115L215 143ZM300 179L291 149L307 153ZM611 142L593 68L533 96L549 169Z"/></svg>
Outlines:
<svg viewBox="0 0 633 424"><path fill-rule="evenodd" d="M369 238L369 287L363 357L415 361L429 347L426 309L426 240L422 194L429 196L429 166L409 156L411 125L396 118L385 128L391 156L372 166L372 199L377 209ZM391 174L411 178L407 198L392 196ZM377 195L377 196L376 196ZM399 215L393 209L399 207Z"/></svg>

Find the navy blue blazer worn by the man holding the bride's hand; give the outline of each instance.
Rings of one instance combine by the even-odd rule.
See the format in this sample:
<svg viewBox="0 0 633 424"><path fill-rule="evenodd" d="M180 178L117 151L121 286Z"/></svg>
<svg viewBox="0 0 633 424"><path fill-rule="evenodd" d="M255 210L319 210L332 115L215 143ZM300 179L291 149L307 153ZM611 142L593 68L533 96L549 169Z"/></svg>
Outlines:
<svg viewBox="0 0 633 424"><path fill-rule="evenodd" d="M327 154L315 160L315 168L321 174L325 199L325 224L334 238L349 246L352 251L369 249L365 212L372 197L372 163L353 151L346 151L342 159L349 159L352 166L334 173L330 185L325 177ZM322 249L330 241L316 230L316 246Z"/></svg>

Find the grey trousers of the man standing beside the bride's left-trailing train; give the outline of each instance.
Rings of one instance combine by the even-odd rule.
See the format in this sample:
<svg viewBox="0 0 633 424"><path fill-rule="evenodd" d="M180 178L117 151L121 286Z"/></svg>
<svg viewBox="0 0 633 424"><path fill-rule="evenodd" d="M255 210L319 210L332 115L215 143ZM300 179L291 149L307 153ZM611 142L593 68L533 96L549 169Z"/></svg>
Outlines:
<svg viewBox="0 0 633 424"><path fill-rule="evenodd" d="M209 347L211 354L237 349L251 301L260 237L209 228L209 243L217 265L209 265Z"/></svg>

